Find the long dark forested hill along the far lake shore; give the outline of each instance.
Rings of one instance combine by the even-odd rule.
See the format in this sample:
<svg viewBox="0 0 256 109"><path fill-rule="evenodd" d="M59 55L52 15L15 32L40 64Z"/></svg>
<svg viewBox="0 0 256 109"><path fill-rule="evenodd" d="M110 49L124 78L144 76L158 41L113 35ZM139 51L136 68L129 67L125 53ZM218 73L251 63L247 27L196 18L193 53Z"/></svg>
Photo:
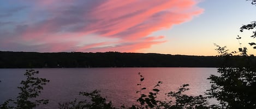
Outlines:
<svg viewBox="0 0 256 109"><path fill-rule="evenodd" d="M152 53L35 53L0 52L0 68L56 67L218 67L216 56Z"/></svg>

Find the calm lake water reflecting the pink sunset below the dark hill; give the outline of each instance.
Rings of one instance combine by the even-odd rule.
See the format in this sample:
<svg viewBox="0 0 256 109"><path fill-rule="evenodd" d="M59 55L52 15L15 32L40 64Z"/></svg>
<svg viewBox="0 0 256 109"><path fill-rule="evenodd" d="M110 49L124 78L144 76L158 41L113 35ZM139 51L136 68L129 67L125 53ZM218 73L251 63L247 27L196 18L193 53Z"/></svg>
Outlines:
<svg viewBox="0 0 256 109"><path fill-rule="evenodd" d="M38 76L49 79L40 98L49 99L47 106L40 108L57 108L58 102L82 99L80 91L98 89L107 100L115 106L136 104L139 94L136 94L140 82L138 72L144 75L142 87L152 89L158 81L163 84L159 99L165 98L165 93L176 91L182 84L189 84L189 95L204 94L210 88L207 78L217 74L217 68L41 68ZM17 97L17 86L26 69L0 69L0 104L7 99ZM147 92L147 91L146 91Z"/></svg>

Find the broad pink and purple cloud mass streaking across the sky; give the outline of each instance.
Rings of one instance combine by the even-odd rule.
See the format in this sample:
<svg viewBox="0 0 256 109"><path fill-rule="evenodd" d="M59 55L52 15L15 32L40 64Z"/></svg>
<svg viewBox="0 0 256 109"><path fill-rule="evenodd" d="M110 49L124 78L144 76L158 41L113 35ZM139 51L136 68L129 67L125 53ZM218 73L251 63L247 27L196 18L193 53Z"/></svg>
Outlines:
<svg viewBox="0 0 256 109"><path fill-rule="evenodd" d="M15 36L5 40L33 43L37 52L136 52L166 42L164 36L149 37L153 32L190 21L203 12L194 0L30 2L35 3L28 17L32 21L19 24ZM38 10L45 15L40 16ZM35 19L41 20L33 22ZM88 42L88 35L113 40Z"/></svg>

